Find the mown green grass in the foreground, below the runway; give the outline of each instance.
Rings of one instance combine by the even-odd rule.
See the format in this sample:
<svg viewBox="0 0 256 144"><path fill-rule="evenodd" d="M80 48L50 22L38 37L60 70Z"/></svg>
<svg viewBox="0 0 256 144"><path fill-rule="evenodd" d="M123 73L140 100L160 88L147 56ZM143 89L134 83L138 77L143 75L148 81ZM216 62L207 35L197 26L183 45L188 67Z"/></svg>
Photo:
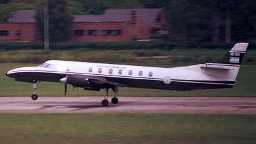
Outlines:
<svg viewBox="0 0 256 144"><path fill-rule="evenodd" d="M1 143L255 143L255 115L0 114Z"/></svg>

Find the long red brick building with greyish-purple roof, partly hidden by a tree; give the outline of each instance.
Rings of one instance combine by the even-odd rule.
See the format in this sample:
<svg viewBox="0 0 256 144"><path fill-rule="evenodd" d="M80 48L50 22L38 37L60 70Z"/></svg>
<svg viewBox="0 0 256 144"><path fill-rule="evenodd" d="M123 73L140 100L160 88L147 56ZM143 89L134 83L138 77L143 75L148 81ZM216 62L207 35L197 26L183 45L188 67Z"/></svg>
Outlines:
<svg viewBox="0 0 256 144"><path fill-rule="evenodd" d="M35 10L19 10L0 23L0 42L39 42ZM167 34L161 8L109 9L103 15L75 15L69 42L120 42L148 40Z"/></svg>

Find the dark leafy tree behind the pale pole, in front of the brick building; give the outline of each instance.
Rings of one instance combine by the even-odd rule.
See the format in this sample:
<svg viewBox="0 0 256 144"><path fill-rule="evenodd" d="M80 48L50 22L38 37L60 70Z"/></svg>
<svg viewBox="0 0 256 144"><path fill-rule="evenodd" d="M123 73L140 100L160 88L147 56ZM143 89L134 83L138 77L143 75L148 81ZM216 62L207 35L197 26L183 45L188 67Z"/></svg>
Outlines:
<svg viewBox="0 0 256 144"><path fill-rule="evenodd" d="M65 42L71 36L74 17L67 8L66 0L49 1L49 42ZM44 41L44 3L35 15L36 28Z"/></svg>

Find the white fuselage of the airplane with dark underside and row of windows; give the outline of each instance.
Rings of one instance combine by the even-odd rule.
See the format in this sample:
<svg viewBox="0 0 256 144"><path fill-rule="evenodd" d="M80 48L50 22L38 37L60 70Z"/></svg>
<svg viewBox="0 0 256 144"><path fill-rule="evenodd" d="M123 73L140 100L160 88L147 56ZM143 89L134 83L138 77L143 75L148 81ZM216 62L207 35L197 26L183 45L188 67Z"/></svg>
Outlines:
<svg viewBox="0 0 256 144"><path fill-rule="evenodd" d="M210 65L211 63L209 63ZM37 81L61 82L67 76L107 81L99 83L70 83L78 87L111 88L112 86L151 88L159 90L198 90L208 88L232 88L236 77L232 70L202 68L205 64L189 67L160 68L107 63L85 63L77 61L46 61L38 67L15 68L6 73L17 81L35 83ZM212 64L213 65L213 64ZM218 67L218 65L213 65ZM236 68L236 65L227 65ZM239 68L239 67L237 67ZM218 72L221 74L218 74ZM238 70L237 70L238 71ZM225 74L223 74L225 73ZM99 77L99 78L95 78Z"/></svg>

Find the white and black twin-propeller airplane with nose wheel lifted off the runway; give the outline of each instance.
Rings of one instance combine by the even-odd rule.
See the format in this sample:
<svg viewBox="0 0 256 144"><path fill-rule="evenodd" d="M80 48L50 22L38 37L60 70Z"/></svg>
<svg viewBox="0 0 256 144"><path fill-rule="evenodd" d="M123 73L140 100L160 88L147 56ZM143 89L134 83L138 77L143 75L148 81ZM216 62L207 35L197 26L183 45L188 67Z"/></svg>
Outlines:
<svg viewBox="0 0 256 144"><path fill-rule="evenodd" d="M21 67L10 70L6 76L15 81L33 83L33 100L36 84L40 81L65 83L84 90L104 91L102 106L108 106L108 90L115 93L111 102L118 103L118 87L149 88L157 90L189 91L232 88L236 83L248 43L237 43L220 60L187 67L142 67L108 63L49 60L38 67Z"/></svg>

